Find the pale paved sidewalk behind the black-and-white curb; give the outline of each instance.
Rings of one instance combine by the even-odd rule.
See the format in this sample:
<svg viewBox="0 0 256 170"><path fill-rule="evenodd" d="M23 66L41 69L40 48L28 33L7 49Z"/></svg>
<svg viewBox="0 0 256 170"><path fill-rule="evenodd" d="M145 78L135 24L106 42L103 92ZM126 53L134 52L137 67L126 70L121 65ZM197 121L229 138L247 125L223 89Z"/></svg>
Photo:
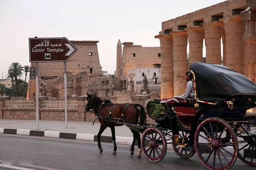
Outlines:
<svg viewBox="0 0 256 170"><path fill-rule="evenodd" d="M65 121L39 120L39 129L36 129L36 120L0 119L0 128L26 129L37 131L53 131L62 133L84 133L97 135L100 123L68 121L68 128L65 128ZM132 138L132 132L125 125L116 127L116 136ZM101 136L111 136L110 128L106 128Z"/></svg>

